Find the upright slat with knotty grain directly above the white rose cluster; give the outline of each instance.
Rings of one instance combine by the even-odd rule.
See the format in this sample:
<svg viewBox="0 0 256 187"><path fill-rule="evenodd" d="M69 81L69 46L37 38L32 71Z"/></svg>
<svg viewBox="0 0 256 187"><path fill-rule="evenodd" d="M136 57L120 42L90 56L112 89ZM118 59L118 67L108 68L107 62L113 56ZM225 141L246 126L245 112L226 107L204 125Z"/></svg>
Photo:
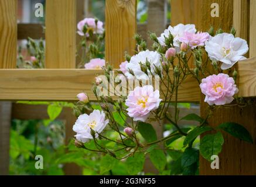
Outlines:
<svg viewBox="0 0 256 187"><path fill-rule="evenodd" d="M124 53L135 50L136 0L107 0L105 4L105 60L118 68Z"/></svg>

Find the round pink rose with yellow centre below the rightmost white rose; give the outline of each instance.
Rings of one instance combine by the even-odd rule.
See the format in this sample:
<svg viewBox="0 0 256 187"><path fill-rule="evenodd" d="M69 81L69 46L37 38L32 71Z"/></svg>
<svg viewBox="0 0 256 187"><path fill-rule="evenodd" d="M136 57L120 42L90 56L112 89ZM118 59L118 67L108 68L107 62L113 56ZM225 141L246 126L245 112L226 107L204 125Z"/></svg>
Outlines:
<svg viewBox="0 0 256 187"><path fill-rule="evenodd" d="M206 95L204 102L209 105L231 103L234 94L238 92L234 79L227 74L210 75L202 79L200 88L202 93Z"/></svg>

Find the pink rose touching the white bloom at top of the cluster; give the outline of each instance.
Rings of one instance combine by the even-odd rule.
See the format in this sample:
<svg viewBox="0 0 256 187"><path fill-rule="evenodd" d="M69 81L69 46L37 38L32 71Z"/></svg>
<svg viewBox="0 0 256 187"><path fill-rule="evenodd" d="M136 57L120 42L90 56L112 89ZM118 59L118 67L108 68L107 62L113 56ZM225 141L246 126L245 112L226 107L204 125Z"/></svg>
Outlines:
<svg viewBox="0 0 256 187"><path fill-rule="evenodd" d="M210 38L209 33L189 33L185 32L183 37L180 37L179 40L188 44L192 49L197 46L204 46L204 43Z"/></svg>

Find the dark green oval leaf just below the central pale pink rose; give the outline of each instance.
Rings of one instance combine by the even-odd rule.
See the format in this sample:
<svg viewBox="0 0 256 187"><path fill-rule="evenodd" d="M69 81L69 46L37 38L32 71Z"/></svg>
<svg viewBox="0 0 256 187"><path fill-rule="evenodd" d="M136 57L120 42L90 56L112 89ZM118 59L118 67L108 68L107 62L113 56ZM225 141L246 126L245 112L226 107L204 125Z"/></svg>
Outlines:
<svg viewBox="0 0 256 187"><path fill-rule="evenodd" d="M152 141L156 141L158 138L156 137L156 131L153 129L153 126L149 123L139 122L138 130L141 133L141 136L145 138L148 143Z"/></svg>

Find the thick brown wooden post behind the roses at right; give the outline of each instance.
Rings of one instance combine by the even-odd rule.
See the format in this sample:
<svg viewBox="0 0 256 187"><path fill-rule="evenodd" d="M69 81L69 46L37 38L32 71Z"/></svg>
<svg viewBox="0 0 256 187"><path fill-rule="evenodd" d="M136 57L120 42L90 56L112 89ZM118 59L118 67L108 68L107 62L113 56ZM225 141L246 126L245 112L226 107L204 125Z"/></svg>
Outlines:
<svg viewBox="0 0 256 187"><path fill-rule="evenodd" d="M211 3L217 3L220 7L220 17L211 18L210 5ZM251 1L253 2L253 1ZM221 27L225 32L230 32L233 25L233 8L234 8L234 25L238 26L238 36L247 37L248 30L246 26L247 18L244 12L248 12L247 1L204 1L200 7L203 10L203 20L200 22L200 26L203 30L211 24L216 29ZM240 7L240 8L239 8ZM239 11L239 12L237 12ZM237 18L240 18L237 20ZM245 24L245 25L244 25ZM205 28L204 28L205 27ZM254 33L254 32L253 32ZM254 35L255 36L255 35ZM247 39L247 38L245 38ZM255 42L255 41L254 41ZM250 38L251 43L251 38ZM251 49L251 46L250 46ZM252 48L253 49L253 48ZM255 51L251 50L251 53L255 54ZM239 72L238 72L239 74ZM201 115L204 116L204 110L207 104L203 102L202 96L201 102ZM254 99L255 105L255 99ZM255 119L255 106L247 106L246 108L221 108L217 109L213 116L209 120L210 126L217 126L223 122L237 122L242 124L248 131L250 131L252 138L255 140L256 135L256 119ZM223 150L219 154L220 169L211 169L210 162L200 157L200 175L255 175L256 174L256 147L253 144L245 143L230 136L227 133L224 134L224 146Z"/></svg>

